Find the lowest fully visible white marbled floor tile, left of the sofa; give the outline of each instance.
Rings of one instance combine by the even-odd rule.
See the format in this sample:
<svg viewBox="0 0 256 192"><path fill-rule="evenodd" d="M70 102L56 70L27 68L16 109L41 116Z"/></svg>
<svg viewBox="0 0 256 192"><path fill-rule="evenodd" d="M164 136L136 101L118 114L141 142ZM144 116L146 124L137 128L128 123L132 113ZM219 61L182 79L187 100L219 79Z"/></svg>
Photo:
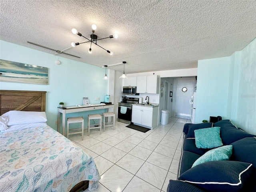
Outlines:
<svg viewBox="0 0 256 192"><path fill-rule="evenodd" d="M145 162L136 173L136 176L142 180L152 184L153 186L161 189L168 171L155 166L151 163Z"/></svg>

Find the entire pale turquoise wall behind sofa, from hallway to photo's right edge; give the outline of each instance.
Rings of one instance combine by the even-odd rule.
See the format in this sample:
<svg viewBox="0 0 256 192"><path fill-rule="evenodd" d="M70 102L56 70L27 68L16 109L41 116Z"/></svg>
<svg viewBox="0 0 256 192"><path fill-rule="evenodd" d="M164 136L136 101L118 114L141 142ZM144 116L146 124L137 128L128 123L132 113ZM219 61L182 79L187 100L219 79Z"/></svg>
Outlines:
<svg viewBox="0 0 256 192"><path fill-rule="evenodd" d="M222 116L256 134L256 39L230 57L198 61L196 123Z"/></svg>

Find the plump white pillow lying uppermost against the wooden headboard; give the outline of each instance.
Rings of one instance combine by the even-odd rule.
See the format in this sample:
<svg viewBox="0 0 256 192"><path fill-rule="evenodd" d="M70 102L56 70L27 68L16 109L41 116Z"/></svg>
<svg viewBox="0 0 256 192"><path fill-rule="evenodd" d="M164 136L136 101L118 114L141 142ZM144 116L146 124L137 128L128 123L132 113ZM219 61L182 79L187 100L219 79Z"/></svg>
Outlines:
<svg viewBox="0 0 256 192"><path fill-rule="evenodd" d="M47 121L45 112L36 111L8 111L2 114L2 119L8 126Z"/></svg>

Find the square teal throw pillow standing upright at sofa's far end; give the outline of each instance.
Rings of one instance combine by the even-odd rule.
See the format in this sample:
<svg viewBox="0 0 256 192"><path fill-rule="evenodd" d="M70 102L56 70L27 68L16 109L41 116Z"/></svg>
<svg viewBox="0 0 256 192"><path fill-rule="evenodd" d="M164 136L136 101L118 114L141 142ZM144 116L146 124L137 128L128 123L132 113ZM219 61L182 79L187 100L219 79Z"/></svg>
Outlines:
<svg viewBox="0 0 256 192"><path fill-rule="evenodd" d="M220 138L220 127L198 129L194 132L197 148L211 149L223 145Z"/></svg>

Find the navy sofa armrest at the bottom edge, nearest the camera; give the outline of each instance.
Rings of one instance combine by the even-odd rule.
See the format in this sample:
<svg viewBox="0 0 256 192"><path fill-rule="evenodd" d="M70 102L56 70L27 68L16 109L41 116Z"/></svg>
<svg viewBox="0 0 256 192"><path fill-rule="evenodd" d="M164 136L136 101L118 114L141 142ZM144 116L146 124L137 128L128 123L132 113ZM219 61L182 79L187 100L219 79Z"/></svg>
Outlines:
<svg viewBox="0 0 256 192"><path fill-rule="evenodd" d="M166 192L206 192L206 191L183 181L170 180Z"/></svg>

